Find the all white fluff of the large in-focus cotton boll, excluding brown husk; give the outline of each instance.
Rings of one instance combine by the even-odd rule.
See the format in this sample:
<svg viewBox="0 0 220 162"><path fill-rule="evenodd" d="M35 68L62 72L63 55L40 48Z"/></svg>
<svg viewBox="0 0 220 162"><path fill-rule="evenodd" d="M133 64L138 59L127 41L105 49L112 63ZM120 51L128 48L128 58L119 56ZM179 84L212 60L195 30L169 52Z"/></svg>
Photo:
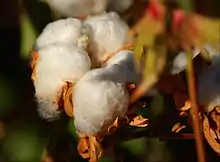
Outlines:
<svg viewBox="0 0 220 162"><path fill-rule="evenodd" d="M63 99L67 83L74 86L73 116L77 116L74 119L79 130L87 126L92 129L92 125L83 123L95 119L96 113L103 115L100 120L107 126L120 114L125 115L129 99L125 85L140 81L140 74L134 68L133 53L118 52L103 68L101 65L109 53L124 45L127 31L127 24L115 12L90 16L84 21L66 18L49 23L36 39L34 49L38 58L33 81L40 116L49 121L58 118L58 103ZM99 69L91 70L91 65ZM108 84L103 84L105 82ZM120 100L113 99L116 95ZM112 99L115 104L109 104ZM92 107L96 111L88 113L90 118L87 119L85 113ZM102 127L101 124L96 129L101 131Z"/></svg>

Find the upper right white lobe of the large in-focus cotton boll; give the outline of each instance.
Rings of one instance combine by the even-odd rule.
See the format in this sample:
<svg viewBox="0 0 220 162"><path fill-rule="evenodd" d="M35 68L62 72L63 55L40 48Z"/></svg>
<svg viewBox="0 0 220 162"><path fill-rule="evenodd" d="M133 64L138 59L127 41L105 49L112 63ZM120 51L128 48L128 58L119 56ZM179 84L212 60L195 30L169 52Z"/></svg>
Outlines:
<svg viewBox="0 0 220 162"><path fill-rule="evenodd" d="M99 67L106 53L115 52L126 39L128 25L115 12L89 17L85 24L91 27L89 54L93 67Z"/></svg>

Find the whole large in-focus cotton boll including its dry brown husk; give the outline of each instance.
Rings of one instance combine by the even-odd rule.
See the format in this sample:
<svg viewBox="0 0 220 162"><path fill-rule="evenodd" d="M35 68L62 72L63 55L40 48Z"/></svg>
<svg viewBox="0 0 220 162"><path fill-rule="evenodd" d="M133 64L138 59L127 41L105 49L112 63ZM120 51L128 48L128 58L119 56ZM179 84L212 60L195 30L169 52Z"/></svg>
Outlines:
<svg viewBox="0 0 220 162"><path fill-rule="evenodd" d="M128 30L115 12L60 19L43 29L32 51L39 115L54 121L64 108L80 137L78 151L90 161L100 157L100 140L114 133L121 119L147 126L147 119L130 111L131 91L142 76L128 50Z"/></svg>

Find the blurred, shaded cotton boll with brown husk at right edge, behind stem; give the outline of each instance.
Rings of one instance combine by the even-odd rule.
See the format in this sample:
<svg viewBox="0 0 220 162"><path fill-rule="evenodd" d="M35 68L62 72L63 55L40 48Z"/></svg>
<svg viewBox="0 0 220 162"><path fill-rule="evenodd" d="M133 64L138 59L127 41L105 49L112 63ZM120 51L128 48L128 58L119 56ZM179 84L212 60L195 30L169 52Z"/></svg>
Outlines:
<svg viewBox="0 0 220 162"><path fill-rule="evenodd" d="M216 140L220 139L220 134L218 132L220 129L220 55L219 51L210 44L205 44L204 48L208 52L210 65L202 66L202 64L200 64L200 67L198 67L200 70L196 77L198 106L199 111L204 112L200 113L204 136L213 150L220 153L219 143ZM201 50L195 49L193 51L193 57L197 56L200 52ZM173 72L175 72L175 74L185 70L187 66L186 53L180 53L174 59L174 65L178 66L174 66ZM186 101L185 106L181 108L181 110L189 110L191 107L191 102ZM211 120L216 123L216 127L212 126Z"/></svg>

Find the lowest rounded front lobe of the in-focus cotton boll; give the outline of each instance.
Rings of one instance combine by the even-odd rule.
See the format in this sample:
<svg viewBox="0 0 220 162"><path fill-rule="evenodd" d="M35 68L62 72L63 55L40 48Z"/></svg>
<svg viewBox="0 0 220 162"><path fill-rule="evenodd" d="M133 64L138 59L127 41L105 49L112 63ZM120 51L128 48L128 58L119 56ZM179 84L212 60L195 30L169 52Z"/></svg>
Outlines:
<svg viewBox="0 0 220 162"><path fill-rule="evenodd" d="M74 123L79 133L102 134L117 117L125 117L129 94L112 69L91 70L74 86Z"/></svg>

